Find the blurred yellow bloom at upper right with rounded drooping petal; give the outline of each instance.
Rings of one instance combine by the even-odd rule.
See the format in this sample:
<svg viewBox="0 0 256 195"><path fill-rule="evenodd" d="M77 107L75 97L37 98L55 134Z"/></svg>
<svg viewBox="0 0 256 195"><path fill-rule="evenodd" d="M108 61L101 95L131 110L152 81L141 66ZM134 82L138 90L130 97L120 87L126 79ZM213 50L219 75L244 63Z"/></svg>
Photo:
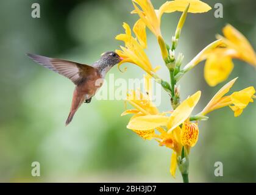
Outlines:
<svg viewBox="0 0 256 195"><path fill-rule="evenodd" d="M187 72L199 62L206 60L204 77L214 87L226 80L233 70L232 59L240 59L256 67L256 54L249 41L238 30L227 24L218 40L209 44L184 67Z"/></svg>

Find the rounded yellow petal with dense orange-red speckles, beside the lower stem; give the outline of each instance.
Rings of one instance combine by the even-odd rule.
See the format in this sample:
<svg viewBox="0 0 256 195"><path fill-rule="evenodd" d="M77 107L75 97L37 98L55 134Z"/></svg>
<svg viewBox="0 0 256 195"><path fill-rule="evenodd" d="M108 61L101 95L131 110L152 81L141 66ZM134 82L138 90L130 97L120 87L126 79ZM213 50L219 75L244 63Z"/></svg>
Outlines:
<svg viewBox="0 0 256 195"><path fill-rule="evenodd" d="M198 140L199 129L197 124L185 121L182 124L182 130L180 134L182 145L193 147Z"/></svg>

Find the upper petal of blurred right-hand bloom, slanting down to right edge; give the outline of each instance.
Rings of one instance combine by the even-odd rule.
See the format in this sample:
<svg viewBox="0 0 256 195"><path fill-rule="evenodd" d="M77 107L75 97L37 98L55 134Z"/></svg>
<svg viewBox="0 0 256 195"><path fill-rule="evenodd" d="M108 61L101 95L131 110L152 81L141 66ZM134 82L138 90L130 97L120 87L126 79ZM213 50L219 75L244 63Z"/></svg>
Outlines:
<svg viewBox="0 0 256 195"><path fill-rule="evenodd" d="M250 63L251 65L256 66L255 51L249 41L246 39L246 37L241 34L241 32L236 30L230 24L227 24L223 28L223 34L230 42L233 43L230 46L234 47L234 49L236 49L240 53L240 59Z"/></svg>

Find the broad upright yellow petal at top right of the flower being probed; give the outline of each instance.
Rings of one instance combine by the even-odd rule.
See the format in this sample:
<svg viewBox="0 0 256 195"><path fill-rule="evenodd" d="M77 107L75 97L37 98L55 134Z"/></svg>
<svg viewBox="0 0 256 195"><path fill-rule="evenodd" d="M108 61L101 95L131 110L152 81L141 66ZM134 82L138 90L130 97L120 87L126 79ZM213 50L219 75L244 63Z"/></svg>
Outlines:
<svg viewBox="0 0 256 195"><path fill-rule="evenodd" d="M133 32L135 33L138 41L143 48L147 48L147 34L146 34L146 24L143 23L142 19L138 21L133 26Z"/></svg>

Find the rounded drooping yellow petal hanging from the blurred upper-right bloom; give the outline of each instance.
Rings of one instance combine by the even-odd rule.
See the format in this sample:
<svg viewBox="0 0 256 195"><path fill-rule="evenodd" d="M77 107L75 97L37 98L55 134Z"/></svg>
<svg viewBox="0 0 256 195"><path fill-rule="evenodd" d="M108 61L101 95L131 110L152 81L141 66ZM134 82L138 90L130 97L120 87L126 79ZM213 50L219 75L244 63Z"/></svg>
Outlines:
<svg viewBox="0 0 256 195"><path fill-rule="evenodd" d="M222 56L221 51L223 49L216 50L218 51L208 56L204 68L205 80L211 87L226 80L233 70L231 57Z"/></svg>

